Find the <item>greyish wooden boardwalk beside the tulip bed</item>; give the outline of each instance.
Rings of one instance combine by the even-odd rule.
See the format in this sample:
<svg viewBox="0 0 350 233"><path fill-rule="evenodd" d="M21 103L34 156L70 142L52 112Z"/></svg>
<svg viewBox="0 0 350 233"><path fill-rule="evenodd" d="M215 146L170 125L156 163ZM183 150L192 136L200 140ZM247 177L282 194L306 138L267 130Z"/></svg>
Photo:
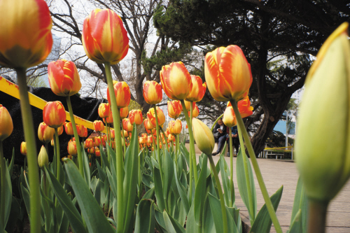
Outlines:
<svg viewBox="0 0 350 233"><path fill-rule="evenodd" d="M218 155L214 156L213 158L215 163L218 162ZM230 158L225 157L225 160L230 166ZM236 158L233 159L233 163L233 167L235 169ZM299 177L295 163L274 159L258 159L258 164L270 196L276 192L281 185L283 185L283 195L281 202L279 203L279 208L277 209L277 218L279 219L283 232L286 232L290 225L295 188L297 185L297 178ZM254 178L259 211L265 202L262 198L255 174ZM241 219L244 221L244 223L250 225L248 211L246 206L244 206L241 197L239 196L235 171L233 181L235 185L236 205L241 209ZM335 197L335 199L333 199L333 201L330 203L330 206L328 206L326 228L326 232L328 233L350 232L350 182L344 186L337 197ZM271 228L271 232L275 232L273 226Z"/></svg>

